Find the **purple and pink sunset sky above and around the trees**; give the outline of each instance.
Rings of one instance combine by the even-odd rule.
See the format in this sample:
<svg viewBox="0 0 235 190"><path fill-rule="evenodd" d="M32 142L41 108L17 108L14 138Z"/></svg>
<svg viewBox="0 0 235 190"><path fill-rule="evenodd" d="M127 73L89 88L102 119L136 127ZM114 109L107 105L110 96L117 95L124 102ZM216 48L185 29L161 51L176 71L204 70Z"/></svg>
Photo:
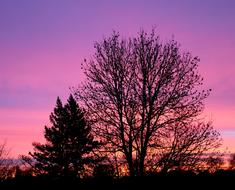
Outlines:
<svg viewBox="0 0 235 190"><path fill-rule="evenodd" d="M81 63L113 30L156 28L199 56L204 115L235 152L234 0L0 0L0 143L17 157L43 142L57 96L84 79Z"/></svg>

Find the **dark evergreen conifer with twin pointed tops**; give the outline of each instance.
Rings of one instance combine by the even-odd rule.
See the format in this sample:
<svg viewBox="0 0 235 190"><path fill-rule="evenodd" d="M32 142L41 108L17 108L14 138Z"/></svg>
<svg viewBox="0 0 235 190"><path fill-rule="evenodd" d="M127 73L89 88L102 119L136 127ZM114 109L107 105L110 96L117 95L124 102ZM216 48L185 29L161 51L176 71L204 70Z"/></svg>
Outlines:
<svg viewBox="0 0 235 190"><path fill-rule="evenodd" d="M52 176L80 176L84 165L92 162L89 153L98 147L84 110L72 95L64 106L57 98L50 122L50 127L45 126L46 143L33 143L35 151L29 153L34 167Z"/></svg>

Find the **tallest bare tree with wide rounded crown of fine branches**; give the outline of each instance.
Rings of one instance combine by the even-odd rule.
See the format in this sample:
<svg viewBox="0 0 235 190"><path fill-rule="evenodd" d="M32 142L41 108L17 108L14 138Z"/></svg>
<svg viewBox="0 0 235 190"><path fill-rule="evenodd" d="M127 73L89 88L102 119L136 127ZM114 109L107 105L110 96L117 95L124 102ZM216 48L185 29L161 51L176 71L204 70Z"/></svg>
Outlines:
<svg viewBox="0 0 235 190"><path fill-rule="evenodd" d="M174 40L161 43L154 30L129 40L114 32L95 49L83 64L87 81L75 95L106 149L124 155L131 176L144 175L146 157L163 147L167 130L193 130L194 135L201 130L184 125L196 122L210 91L200 90L199 58L182 53ZM203 146L210 144L211 130L205 128ZM198 142L191 138L191 143Z"/></svg>

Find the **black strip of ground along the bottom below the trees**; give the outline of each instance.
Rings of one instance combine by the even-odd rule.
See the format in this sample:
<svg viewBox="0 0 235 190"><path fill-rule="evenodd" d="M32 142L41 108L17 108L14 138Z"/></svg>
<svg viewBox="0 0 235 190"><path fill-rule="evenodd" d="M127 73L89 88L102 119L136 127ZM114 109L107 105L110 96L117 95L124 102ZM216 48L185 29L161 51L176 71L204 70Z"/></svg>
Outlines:
<svg viewBox="0 0 235 190"><path fill-rule="evenodd" d="M0 183L2 189L235 189L235 174L216 175L167 174L146 177L111 177L58 179L48 177L22 177Z"/></svg>

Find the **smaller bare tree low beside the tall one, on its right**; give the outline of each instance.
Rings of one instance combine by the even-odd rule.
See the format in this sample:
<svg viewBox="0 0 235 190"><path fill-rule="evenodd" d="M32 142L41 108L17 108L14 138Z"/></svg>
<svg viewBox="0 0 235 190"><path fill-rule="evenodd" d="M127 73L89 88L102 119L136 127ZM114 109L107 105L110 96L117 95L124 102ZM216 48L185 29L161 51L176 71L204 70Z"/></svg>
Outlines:
<svg viewBox="0 0 235 190"><path fill-rule="evenodd" d="M157 171L197 170L200 165L218 161L208 151L213 152L220 145L220 138L212 124L204 122L178 123L163 128L164 139L149 162L149 167ZM208 162L210 161L210 162ZM156 163L156 164L153 164ZM214 166L213 166L214 167Z"/></svg>

